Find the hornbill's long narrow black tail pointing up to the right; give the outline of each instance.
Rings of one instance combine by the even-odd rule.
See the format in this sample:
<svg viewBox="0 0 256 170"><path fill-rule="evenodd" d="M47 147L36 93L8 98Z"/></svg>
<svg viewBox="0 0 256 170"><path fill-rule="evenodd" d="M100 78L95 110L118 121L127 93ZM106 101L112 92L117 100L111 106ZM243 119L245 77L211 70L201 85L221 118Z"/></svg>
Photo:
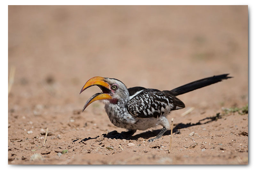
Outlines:
<svg viewBox="0 0 256 170"><path fill-rule="evenodd" d="M172 89L171 91L168 91L169 94L173 95L173 96L178 96L180 94L184 94L187 92L191 92L193 90L202 88L204 86L207 85L211 85L217 82L222 81L223 79L228 79L228 78L232 78L232 77L228 77L229 74L221 74L218 76L213 76L213 77L208 77L208 78L203 78L197 81L193 81L191 83L188 83L186 85L182 85L180 87L177 87L175 89ZM167 92L167 91L165 91Z"/></svg>

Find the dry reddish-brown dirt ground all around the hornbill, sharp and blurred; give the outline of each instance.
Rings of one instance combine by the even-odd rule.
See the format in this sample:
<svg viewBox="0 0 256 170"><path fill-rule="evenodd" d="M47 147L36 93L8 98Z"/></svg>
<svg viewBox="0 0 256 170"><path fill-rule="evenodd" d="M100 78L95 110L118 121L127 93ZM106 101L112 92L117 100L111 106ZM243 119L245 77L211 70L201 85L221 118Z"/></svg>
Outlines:
<svg viewBox="0 0 256 170"><path fill-rule="evenodd" d="M248 6L9 6L8 164L248 164ZM171 90L230 73L178 96L162 127L115 139L104 105L79 95L94 76ZM9 78L9 80L11 79ZM194 107L189 114L182 113ZM48 128L44 144L45 131ZM192 133L194 132L194 133ZM192 136L189 134L193 134Z"/></svg>

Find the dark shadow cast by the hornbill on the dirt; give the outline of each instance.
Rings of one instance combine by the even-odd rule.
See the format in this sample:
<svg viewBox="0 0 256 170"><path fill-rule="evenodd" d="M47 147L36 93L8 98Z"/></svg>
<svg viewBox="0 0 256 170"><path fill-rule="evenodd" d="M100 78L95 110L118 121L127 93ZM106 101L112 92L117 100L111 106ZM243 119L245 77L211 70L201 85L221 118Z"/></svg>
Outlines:
<svg viewBox="0 0 256 170"><path fill-rule="evenodd" d="M175 134L180 134L180 130L179 129L183 129L183 128L188 128L191 126L196 126L196 125L201 125L201 124L207 124L209 122L213 122L213 121L217 121L218 118L221 118L220 114L216 114L216 116L212 116L212 117L206 117L204 119L199 120L196 123L179 123L177 124L173 129L172 132ZM202 123L203 121L207 120L206 122ZM142 132L140 134L134 135L134 136L129 136L129 137L123 137L123 139L127 139L127 140L137 140L138 138L142 137L144 139L148 139L150 137L155 137L159 132L161 131L161 129L158 130L153 130L153 131L146 131L146 132ZM122 132L123 133L123 132ZM117 136L120 136L121 133L118 133L116 130L109 132L108 134L102 134L104 137L107 138L111 138L114 139ZM170 135L171 134L171 130L167 130L163 136L165 135Z"/></svg>

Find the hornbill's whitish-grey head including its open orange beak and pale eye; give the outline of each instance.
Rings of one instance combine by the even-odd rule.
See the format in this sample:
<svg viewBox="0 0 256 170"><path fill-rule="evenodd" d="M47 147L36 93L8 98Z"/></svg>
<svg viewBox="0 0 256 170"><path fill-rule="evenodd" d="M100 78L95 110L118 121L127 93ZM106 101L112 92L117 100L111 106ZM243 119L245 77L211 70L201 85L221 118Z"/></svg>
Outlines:
<svg viewBox="0 0 256 170"><path fill-rule="evenodd" d="M80 93L93 85L100 87L102 93L96 93L89 100L87 100L83 111L87 106L96 100L101 100L105 104L116 104L118 100L129 100L129 92L126 86L120 80L115 78L93 77L85 83Z"/></svg>

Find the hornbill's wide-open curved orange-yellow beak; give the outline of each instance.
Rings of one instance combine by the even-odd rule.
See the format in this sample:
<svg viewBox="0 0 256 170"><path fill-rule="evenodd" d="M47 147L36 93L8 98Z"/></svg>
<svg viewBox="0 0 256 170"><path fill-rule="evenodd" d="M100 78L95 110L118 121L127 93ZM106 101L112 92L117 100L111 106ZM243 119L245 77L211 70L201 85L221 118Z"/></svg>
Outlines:
<svg viewBox="0 0 256 170"><path fill-rule="evenodd" d="M110 85L106 83L106 81L104 80L105 78L103 77L93 77L85 83L85 85L83 86L79 94L81 94L81 92L83 92L85 89L93 85L97 85L98 87L100 87L100 89L102 90L102 93L96 93L92 97L90 97L90 99L87 100L87 102L85 103L83 111L87 106L89 106L92 102L96 100L112 99L112 96L110 95L110 92L111 92Z"/></svg>

